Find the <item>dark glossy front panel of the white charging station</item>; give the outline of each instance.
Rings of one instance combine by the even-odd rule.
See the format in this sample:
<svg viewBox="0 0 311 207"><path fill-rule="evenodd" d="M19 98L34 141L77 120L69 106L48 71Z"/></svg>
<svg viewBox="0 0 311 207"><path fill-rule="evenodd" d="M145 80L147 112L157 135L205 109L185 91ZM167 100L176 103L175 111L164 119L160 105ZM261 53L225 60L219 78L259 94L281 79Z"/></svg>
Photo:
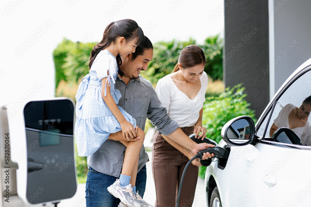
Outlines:
<svg viewBox="0 0 311 207"><path fill-rule="evenodd" d="M77 190L72 101L30 101L24 117L27 200L38 204L72 197Z"/></svg>

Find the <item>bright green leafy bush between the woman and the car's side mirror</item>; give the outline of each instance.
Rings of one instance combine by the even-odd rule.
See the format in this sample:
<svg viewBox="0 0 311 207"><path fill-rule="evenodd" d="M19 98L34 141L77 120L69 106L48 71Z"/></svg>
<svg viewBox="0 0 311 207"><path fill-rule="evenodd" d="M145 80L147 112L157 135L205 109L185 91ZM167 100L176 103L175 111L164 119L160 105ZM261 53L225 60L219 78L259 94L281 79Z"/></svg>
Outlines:
<svg viewBox="0 0 311 207"><path fill-rule="evenodd" d="M222 139L220 136L222 127L231 119L248 115L254 122L255 111L248 108L250 104L245 100L247 94L245 88L238 84L233 88L226 88L219 97L207 97L203 105L202 124L207 128L207 137L217 143ZM204 178L206 167L200 167L199 176Z"/></svg>

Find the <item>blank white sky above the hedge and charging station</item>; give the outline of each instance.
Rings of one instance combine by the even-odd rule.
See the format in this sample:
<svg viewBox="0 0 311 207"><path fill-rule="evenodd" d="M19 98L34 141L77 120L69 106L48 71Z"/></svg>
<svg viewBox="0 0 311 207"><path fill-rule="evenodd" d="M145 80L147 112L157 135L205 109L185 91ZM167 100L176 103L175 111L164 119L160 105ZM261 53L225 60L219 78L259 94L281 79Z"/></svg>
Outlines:
<svg viewBox="0 0 311 207"><path fill-rule="evenodd" d="M52 52L64 37L98 42L110 22L125 18L153 43L203 43L224 29L223 0L1 0L0 9L0 106L54 97Z"/></svg>

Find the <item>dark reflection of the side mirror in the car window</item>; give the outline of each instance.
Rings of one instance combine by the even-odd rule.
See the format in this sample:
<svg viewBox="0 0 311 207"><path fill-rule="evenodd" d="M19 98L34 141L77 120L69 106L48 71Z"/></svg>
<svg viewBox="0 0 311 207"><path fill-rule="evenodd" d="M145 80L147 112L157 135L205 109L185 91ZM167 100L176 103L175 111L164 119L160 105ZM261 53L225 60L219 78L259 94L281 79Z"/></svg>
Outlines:
<svg viewBox="0 0 311 207"><path fill-rule="evenodd" d="M291 129L282 127L272 134L273 142L281 142L287 144L303 145L299 136Z"/></svg>

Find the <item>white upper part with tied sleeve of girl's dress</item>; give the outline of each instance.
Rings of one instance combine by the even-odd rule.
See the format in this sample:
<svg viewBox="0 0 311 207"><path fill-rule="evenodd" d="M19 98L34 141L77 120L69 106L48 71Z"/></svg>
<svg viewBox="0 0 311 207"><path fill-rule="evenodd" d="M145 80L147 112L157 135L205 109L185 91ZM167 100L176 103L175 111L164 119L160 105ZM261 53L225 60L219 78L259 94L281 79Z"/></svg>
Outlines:
<svg viewBox="0 0 311 207"><path fill-rule="evenodd" d="M107 95L107 85L110 86L110 81L115 83L115 77L118 72L117 61L114 56L110 54L98 54L100 55L91 66L91 70L96 71L96 76L100 80L103 78L107 78L105 83L105 93L104 96ZM108 75L109 73L109 75Z"/></svg>

